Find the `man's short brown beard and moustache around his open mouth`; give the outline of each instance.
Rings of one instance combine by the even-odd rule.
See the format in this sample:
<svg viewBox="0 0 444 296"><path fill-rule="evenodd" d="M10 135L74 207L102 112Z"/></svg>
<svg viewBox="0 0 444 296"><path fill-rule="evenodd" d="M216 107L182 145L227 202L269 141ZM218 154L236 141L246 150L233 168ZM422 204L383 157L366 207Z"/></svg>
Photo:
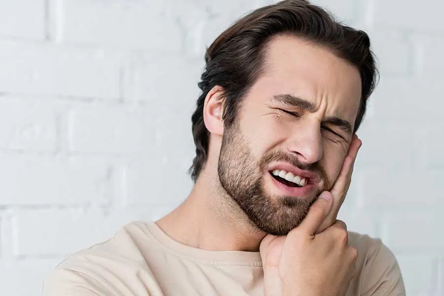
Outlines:
<svg viewBox="0 0 444 296"><path fill-rule="evenodd" d="M238 122L225 129L218 162L222 188L238 204L248 219L263 232L287 235L307 215L319 194L330 189L327 175L319 163L301 164L295 155L281 150L270 151L259 160L243 138ZM324 188L307 200L295 196L272 196L264 188L264 172L272 161L288 162L299 169L315 172Z"/></svg>

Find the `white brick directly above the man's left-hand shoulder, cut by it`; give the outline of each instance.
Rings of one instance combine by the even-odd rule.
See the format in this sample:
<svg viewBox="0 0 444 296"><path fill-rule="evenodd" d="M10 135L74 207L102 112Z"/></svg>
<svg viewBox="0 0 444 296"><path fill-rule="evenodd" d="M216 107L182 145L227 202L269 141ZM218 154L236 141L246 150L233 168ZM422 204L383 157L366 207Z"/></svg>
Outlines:
<svg viewBox="0 0 444 296"><path fill-rule="evenodd" d="M15 213L14 254L39 257L68 255L110 239L124 224L151 220L147 207L23 210Z"/></svg>

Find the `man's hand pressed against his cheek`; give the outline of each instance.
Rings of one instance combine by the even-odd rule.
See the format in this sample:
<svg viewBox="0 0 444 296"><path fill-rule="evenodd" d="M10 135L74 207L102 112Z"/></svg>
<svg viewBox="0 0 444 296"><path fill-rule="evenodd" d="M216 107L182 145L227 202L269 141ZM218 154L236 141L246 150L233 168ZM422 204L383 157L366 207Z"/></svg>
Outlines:
<svg viewBox="0 0 444 296"><path fill-rule="evenodd" d="M332 188L311 206L287 236L266 235L260 244L266 296L343 295L355 274L357 250L348 245L347 227L336 221L351 182L361 140L353 136ZM333 221L333 222L332 222Z"/></svg>

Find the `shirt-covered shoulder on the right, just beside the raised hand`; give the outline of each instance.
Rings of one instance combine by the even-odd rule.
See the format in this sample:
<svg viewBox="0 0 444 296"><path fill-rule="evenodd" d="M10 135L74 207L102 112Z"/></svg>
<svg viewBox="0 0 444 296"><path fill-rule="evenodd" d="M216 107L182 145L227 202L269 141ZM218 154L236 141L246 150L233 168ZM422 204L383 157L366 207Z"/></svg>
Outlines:
<svg viewBox="0 0 444 296"><path fill-rule="evenodd" d="M361 295L402 296L404 282L393 252L379 238L348 232L349 245L358 250L357 276Z"/></svg>

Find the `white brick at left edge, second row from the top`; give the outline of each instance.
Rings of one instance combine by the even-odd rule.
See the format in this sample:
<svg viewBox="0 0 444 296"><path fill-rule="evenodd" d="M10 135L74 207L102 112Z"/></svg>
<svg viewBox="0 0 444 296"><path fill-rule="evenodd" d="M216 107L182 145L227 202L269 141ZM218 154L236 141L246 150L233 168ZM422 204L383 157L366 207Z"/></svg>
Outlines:
<svg viewBox="0 0 444 296"><path fill-rule="evenodd" d="M0 42L0 92L120 96L120 62L100 50Z"/></svg>

